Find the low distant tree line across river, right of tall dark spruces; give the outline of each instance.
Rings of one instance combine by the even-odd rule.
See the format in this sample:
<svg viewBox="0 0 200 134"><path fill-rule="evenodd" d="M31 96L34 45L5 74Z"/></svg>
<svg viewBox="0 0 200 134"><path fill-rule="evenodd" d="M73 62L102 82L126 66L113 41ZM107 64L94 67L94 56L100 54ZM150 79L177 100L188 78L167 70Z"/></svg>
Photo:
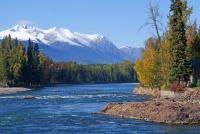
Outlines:
<svg viewBox="0 0 200 134"><path fill-rule="evenodd" d="M50 83L115 83L136 82L133 64L88 64L75 62L44 63L44 80Z"/></svg>

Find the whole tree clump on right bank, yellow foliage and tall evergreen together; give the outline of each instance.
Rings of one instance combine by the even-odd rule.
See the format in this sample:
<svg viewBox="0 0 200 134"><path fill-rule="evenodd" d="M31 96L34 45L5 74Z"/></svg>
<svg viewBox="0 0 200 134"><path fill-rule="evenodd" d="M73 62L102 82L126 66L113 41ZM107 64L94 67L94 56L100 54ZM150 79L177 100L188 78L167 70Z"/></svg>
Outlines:
<svg viewBox="0 0 200 134"><path fill-rule="evenodd" d="M135 62L140 84L160 89L198 85L197 80L191 81L198 71L192 61L200 59L200 29L189 19L192 8L187 7L187 1L172 0L168 29L162 36L158 32L158 8L151 6L150 13L157 37L146 41L142 59Z"/></svg>

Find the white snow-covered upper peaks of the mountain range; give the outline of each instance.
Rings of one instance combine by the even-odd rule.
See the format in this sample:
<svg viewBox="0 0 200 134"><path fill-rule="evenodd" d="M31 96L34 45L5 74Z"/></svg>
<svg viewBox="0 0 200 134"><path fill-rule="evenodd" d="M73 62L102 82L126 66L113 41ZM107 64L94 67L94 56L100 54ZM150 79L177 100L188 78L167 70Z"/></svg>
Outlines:
<svg viewBox="0 0 200 134"><path fill-rule="evenodd" d="M44 30L32 25L21 24L17 24L8 30L0 32L0 38L2 39L9 34L11 37L18 38L19 40L28 40L30 38L45 44L68 42L71 44L81 43L91 45L98 42L110 42L109 39L100 34L81 34L78 32L71 32L66 28L57 27Z"/></svg>

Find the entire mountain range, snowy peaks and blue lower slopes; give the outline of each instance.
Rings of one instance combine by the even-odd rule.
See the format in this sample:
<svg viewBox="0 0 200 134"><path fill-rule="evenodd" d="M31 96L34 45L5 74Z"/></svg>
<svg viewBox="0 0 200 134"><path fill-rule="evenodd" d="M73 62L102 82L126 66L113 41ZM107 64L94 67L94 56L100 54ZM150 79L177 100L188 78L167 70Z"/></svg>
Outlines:
<svg viewBox="0 0 200 134"><path fill-rule="evenodd" d="M12 38L25 43L28 39L38 43L41 50L56 61L107 64L138 58L138 54L136 54L137 57L132 56L133 53L117 48L108 38L99 34L81 34L56 27L44 30L32 26L16 25L0 32L0 40L9 34ZM134 53L138 53L136 51Z"/></svg>

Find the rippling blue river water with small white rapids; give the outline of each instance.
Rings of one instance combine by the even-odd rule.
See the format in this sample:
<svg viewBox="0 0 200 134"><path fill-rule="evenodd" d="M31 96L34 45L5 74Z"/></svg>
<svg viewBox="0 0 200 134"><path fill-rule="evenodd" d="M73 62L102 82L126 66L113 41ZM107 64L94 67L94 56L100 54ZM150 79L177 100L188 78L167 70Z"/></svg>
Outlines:
<svg viewBox="0 0 200 134"><path fill-rule="evenodd" d="M135 84L57 85L0 96L0 134L200 133L199 126L165 125L93 114L109 102L144 101ZM34 96L35 99L25 99Z"/></svg>

